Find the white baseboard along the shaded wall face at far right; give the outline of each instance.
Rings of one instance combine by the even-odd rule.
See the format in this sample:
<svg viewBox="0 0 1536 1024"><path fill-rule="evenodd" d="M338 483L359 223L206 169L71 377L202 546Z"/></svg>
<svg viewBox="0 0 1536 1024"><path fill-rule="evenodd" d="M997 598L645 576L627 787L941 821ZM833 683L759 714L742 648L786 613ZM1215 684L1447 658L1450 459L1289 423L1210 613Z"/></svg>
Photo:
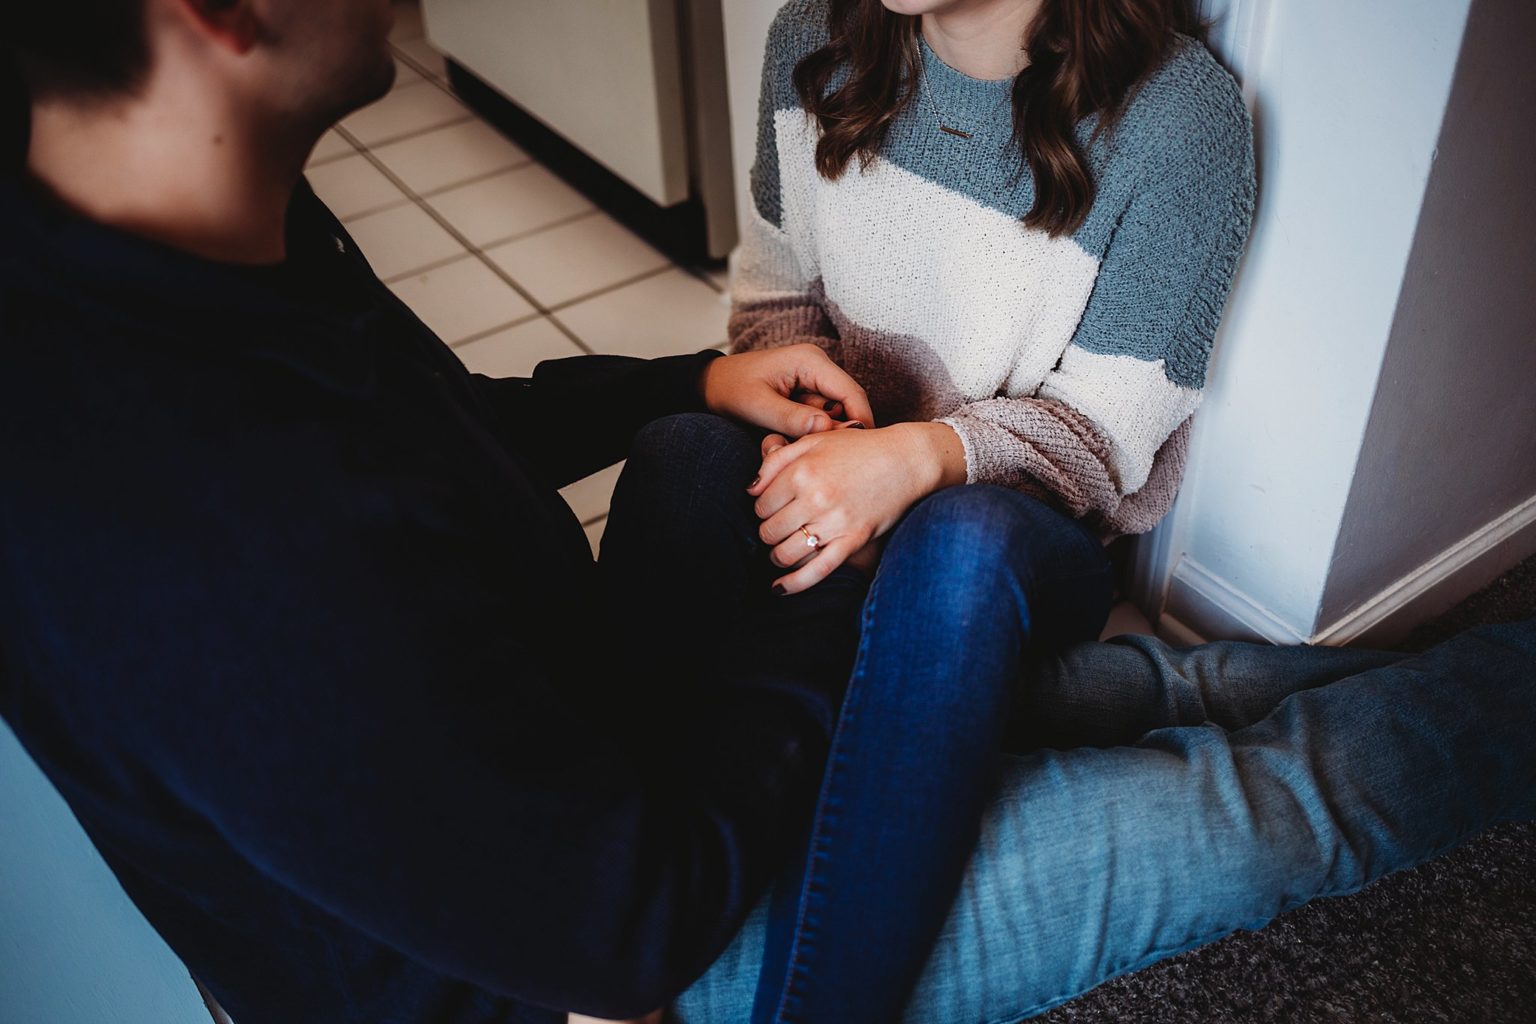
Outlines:
<svg viewBox="0 0 1536 1024"><path fill-rule="evenodd" d="M1318 629L1312 643L1392 643L1536 554L1536 494Z"/></svg>

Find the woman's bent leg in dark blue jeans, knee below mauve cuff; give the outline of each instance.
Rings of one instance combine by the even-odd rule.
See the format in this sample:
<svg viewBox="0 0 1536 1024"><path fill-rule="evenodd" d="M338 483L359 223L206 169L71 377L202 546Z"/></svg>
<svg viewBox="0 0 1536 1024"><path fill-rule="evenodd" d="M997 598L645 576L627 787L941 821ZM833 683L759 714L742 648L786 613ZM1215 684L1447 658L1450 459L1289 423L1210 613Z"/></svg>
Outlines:
<svg viewBox="0 0 1536 1024"><path fill-rule="evenodd" d="M1097 636L1098 539L1040 500L957 487L894 531L863 608L805 878L783 884L754 1021L894 1019L945 920L1028 651Z"/></svg>

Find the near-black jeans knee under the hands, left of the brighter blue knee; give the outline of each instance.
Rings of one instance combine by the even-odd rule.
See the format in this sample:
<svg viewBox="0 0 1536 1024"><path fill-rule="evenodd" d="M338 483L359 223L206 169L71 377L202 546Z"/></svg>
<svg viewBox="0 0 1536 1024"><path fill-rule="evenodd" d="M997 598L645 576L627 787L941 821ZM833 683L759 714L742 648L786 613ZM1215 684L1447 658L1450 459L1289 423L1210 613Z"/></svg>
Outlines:
<svg viewBox="0 0 1536 1024"><path fill-rule="evenodd" d="M598 563L610 633L594 637L616 666L611 712L631 728L657 718L687 728L723 680L837 695L846 686L868 579L839 568L802 594L773 594L782 570L768 562L746 494L760 438L705 413L636 434ZM831 734L833 722L823 725Z"/></svg>

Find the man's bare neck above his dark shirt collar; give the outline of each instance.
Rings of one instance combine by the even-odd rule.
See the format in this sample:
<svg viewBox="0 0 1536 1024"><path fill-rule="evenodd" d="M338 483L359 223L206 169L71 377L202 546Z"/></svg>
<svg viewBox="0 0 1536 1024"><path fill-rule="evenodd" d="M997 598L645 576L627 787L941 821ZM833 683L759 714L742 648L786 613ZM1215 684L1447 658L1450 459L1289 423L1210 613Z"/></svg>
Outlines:
<svg viewBox="0 0 1536 1024"><path fill-rule="evenodd" d="M174 95L34 104L28 170L94 221L206 259L281 263L289 200L313 140L284 147L267 134L257 146L257 132L229 111L161 98Z"/></svg>

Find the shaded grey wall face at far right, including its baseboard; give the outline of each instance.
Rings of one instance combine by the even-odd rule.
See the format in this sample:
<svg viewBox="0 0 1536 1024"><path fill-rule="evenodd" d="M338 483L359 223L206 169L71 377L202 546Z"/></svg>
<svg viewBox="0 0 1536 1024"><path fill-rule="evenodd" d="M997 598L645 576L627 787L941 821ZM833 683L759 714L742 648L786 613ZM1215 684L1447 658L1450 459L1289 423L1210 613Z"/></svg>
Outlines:
<svg viewBox="0 0 1536 1024"><path fill-rule="evenodd" d="M1390 642L1536 551L1533 38L1530 0L1471 5L1329 573L1329 639Z"/></svg>

